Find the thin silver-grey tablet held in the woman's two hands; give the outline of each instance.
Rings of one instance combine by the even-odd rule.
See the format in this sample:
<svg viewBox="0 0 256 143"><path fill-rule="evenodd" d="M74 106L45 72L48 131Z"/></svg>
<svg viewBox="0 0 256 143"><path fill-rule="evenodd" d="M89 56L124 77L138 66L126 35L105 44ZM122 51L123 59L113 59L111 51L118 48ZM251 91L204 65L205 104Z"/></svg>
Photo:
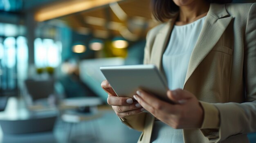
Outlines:
<svg viewBox="0 0 256 143"><path fill-rule="evenodd" d="M102 66L101 72L119 97L130 97L139 89L170 101L167 82L155 65Z"/></svg>

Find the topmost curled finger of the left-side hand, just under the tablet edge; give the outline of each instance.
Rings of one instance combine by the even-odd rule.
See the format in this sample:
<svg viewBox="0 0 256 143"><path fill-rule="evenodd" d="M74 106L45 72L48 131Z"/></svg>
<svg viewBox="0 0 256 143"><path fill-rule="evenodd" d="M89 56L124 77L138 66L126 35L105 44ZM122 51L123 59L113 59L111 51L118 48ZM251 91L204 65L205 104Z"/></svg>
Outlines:
<svg viewBox="0 0 256 143"><path fill-rule="evenodd" d="M130 105L133 103L133 100L128 97L116 97L116 96L108 96L107 102L112 106L124 106Z"/></svg>

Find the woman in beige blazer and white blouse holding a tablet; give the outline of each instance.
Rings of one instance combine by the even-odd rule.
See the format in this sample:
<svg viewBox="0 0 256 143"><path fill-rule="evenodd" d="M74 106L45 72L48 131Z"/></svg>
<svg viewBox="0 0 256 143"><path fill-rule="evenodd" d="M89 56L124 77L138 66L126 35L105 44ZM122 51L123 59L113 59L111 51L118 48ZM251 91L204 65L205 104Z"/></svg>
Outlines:
<svg viewBox="0 0 256 143"><path fill-rule="evenodd" d="M142 90L136 102L117 97L103 81L108 103L143 131L138 142L249 143L247 133L256 132L256 4L152 2L155 18L168 22L148 32L144 64L166 75L166 95L176 104Z"/></svg>

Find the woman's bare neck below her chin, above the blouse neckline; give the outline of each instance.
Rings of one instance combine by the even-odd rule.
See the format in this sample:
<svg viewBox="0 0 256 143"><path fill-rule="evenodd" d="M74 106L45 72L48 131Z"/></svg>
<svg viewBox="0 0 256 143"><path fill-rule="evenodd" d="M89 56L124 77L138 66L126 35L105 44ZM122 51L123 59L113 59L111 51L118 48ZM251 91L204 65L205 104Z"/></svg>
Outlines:
<svg viewBox="0 0 256 143"><path fill-rule="evenodd" d="M210 4L205 0L195 0L190 4L180 6L180 22L193 22L198 16L209 11Z"/></svg>

